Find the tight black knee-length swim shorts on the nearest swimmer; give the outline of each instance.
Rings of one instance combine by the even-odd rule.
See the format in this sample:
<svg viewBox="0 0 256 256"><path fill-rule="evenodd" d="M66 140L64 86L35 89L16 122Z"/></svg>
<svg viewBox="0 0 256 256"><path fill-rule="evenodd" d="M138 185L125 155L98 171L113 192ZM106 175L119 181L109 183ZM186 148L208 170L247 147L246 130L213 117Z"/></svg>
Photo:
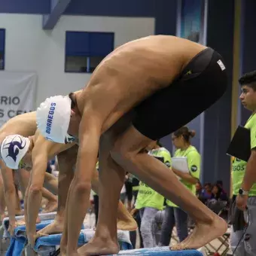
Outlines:
<svg viewBox="0 0 256 256"><path fill-rule="evenodd" d="M191 59L169 87L134 108L133 126L149 139L161 139L206 111L226 89L224 60L215 50L206 48Z"/></svg>

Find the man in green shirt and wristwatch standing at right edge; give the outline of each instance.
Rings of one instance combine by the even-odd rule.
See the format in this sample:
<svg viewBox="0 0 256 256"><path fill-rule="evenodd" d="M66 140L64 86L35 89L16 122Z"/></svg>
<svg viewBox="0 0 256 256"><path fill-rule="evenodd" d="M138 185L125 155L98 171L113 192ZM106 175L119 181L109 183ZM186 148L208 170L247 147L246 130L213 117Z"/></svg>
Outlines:
<svg viewBox="0 0 256 256"><path fill-rule="evenodd" d="M230 245L233 251L236 249L236 256L252 256L256 255L256 71L243 75L239 83L242 86L242 105L252 112L245 123L245 128L251 133L251 156L247 163L237 158L233 159L233 196L236 196L236 206L240 210L248 209L249 223L240 243L244 230L234 232L232 229Z"/></svg>

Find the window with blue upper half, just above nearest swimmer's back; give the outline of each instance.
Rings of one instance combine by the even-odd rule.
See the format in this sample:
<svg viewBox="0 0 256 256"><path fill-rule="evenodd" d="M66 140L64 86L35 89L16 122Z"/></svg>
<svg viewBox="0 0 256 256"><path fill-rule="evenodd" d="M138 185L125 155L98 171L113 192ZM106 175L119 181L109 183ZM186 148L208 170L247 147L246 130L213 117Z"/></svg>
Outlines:
<svg viewBox="0 0 256 256"><path fill-rule="evenodd" d="M67 31L65 72L92 73L112 50L112 32Z"/></svg>

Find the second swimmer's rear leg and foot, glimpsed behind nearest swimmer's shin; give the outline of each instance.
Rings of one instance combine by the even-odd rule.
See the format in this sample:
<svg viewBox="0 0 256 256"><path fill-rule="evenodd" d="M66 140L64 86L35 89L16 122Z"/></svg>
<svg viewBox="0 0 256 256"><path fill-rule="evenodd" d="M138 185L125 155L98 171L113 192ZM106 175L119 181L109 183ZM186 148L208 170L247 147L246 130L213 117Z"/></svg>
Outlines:
<svg viewBox="0 0 256 256"><path fill-rule="evenodd" d="M92 189L96 194L99 194L99 172L96 169L93 172ZM134 231L137 227L135 219L119 200L117 208L117 230Z"/></svg>

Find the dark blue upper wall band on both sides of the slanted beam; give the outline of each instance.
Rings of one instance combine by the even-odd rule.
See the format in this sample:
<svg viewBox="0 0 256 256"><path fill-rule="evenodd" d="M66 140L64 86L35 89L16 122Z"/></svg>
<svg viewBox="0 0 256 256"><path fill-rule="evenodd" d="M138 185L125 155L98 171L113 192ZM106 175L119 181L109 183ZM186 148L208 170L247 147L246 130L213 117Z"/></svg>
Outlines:
<svg viewBox="0 0 256 256"><path fill-rule="evenodd" d="M0 0L0 13L50 14L56 0ZM177 0L72 0L66 15L155 17L156 34L175 35Z"/></svg>

